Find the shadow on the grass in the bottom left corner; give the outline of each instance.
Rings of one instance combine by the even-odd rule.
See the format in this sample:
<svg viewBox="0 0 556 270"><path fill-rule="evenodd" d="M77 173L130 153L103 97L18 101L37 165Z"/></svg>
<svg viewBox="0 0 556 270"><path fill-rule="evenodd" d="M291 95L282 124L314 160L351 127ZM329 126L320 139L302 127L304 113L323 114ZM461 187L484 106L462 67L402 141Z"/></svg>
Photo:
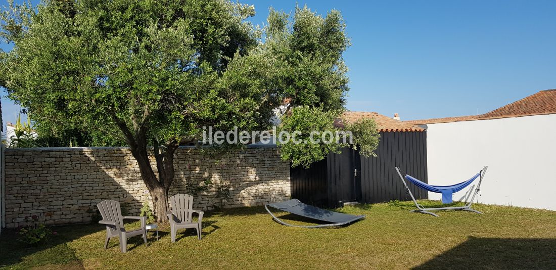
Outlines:
<svg viewBox="0 0 556 270"><path fill-rule="evenodd" d="M17 268L83 269L83 264L68 243L103 229L96 224L52 227L53 231L58 232L57 235L52 235L48 243L37 247L28 247L19 241L17 230L3 229L0 237L0 268L12 268L19 264Z"/></svg>

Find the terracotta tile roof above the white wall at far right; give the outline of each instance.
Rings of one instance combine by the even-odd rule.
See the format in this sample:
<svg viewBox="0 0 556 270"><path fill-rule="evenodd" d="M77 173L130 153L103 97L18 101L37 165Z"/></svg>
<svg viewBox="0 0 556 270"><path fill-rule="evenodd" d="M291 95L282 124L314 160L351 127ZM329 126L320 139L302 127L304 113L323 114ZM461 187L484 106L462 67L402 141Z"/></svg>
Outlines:
<svg viewBox="0 0 556 270"><path fill-rule="evenodd" d="M556 89L537 92L533 95L525 97L524 99L520 99L508 105L499 107L494 111L487 112L486 114L423 120L408 120L404 122L414 125L424 125L543 114L556 114Z"/></svg>

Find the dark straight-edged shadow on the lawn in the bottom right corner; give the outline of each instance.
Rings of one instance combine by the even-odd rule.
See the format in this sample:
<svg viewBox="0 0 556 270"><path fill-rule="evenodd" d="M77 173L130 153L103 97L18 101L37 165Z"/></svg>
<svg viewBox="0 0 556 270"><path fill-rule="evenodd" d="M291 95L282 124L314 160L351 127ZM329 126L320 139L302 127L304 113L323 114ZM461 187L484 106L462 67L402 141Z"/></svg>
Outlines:
<svg viewBox="0 0 556 270"><path fill-rule="evenodd" d="M476 238L414 269L556 269L556 239Z"/></svg>

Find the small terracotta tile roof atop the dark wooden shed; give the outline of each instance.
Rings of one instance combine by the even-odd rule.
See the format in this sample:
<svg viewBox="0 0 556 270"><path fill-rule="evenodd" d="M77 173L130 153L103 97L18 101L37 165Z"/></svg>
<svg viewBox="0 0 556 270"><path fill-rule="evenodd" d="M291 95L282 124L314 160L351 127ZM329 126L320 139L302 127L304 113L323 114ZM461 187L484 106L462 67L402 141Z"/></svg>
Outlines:
<svg viewBox="0 0 556 270"><path fill-rule="evenodd" d="M425 129L412 125L408 122L399 121L392 119L388 116L381 115L377 112L363 112L363 111L346 111L342 114L342 118L346 121L356 121L361 118L369 117L376 121L379 127L379 131L384 132L410 132L410 131L425 131ZM341 119L334 121L334 125L337 127L344 127Z"/></svg>

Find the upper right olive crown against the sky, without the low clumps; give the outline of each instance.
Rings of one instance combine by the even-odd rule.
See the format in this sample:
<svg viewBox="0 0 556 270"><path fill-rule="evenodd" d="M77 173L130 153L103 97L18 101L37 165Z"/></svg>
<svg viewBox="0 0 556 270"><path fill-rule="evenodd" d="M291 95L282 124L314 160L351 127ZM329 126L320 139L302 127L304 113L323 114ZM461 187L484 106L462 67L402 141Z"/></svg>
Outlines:
<svg viewBox="0 0 556 270"><path fill-rule="evenodd" d="M307 6L289 14L270 9L265 46L276 57L275 85L290 106L344 109L349 78L342 53L350 45L337 10L326 17Z"/></svg>

